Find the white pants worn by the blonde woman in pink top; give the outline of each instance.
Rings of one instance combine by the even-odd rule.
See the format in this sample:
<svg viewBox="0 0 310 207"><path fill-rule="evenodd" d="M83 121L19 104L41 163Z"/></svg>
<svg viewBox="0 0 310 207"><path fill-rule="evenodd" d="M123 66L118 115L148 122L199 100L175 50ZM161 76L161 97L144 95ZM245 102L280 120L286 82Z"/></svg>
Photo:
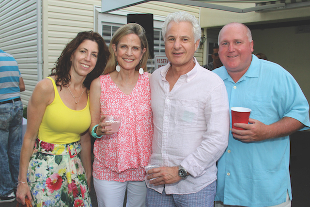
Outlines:
<svg viewBox="0 0 310 207"><path fill-rule="evenodd" d="M123 207L127 189L126 207L145 207L145 181L107 181L93 178L98 207Z"/></svg>

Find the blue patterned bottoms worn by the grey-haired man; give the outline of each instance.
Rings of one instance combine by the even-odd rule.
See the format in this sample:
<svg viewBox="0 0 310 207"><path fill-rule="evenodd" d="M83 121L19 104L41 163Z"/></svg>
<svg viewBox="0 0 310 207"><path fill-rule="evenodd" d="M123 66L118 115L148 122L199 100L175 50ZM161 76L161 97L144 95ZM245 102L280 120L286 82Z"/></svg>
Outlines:
<svg viewBox="0 0 310 207"><path fill-rule="evenodd" d="M201 191L184 195L167 195L165 189L161 194L147 188L146 207L213 207L216 189L217 181L209 184Z"/></svg>

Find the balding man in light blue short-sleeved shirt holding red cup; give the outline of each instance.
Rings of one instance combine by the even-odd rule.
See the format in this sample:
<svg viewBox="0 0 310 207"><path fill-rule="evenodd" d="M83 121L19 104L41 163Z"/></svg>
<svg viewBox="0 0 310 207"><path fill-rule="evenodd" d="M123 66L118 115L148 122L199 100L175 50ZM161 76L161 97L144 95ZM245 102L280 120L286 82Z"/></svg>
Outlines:
<svg viewBox="0 0 310 207"><path fill-rule="evenodd" d="M235 123L218 160L216 207L290 207L290 140L310 127L309 104L293 76L258 59L247 26L230 23L218 36L230 108L250 108L249 124ZM230 122L232 128L232 122Z"/></svg>

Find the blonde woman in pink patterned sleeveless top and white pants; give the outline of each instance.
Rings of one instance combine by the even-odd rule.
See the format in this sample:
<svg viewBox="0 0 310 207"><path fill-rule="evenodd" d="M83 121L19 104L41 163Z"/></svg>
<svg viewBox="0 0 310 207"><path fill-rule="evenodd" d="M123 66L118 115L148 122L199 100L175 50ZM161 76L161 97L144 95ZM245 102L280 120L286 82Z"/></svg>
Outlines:
<svg viewBox="0 0 310 207"><path fill-rule="evenodd" d="M149 57L144 29L126 24L113 35L111 57L103 76L91 85L94 143L93 179L99 207L145 206L145 170L151 155L153 116L146 62ZM106 115L121 116L118 132L111 133Z"/></svg>

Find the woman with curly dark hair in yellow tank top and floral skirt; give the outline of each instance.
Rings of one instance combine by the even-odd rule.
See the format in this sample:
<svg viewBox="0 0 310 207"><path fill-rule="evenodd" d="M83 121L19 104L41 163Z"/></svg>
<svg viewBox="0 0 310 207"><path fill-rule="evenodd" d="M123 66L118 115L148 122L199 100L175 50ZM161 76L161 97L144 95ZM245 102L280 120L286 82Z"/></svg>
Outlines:
<svg viewBox="0 0 310 207"><path fill-rule="evenodd" d="M91 207L89 89L102 74L109 49L96 32L79 32L28 103L16 197L24 204ZM83 165L82 165L83 164Z"/></svg>

